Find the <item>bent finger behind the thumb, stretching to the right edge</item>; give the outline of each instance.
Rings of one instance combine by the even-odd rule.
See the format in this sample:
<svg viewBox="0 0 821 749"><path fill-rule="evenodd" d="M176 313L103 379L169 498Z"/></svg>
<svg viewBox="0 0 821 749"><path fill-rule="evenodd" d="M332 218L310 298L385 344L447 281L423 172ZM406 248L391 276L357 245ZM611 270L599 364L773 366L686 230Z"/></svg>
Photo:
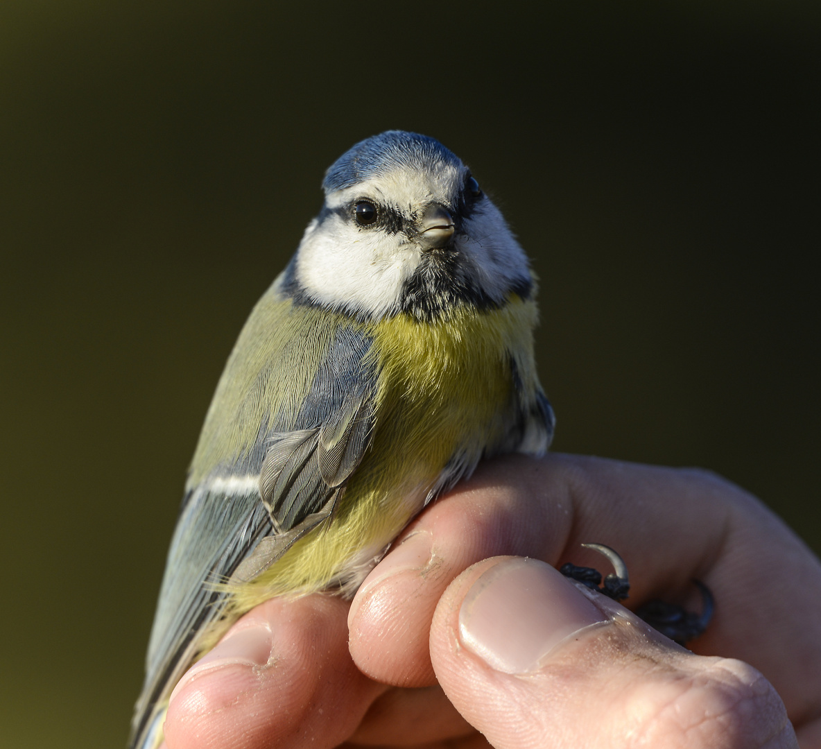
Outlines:
<svg viewBox="0 0 821 749"><path fill-rule="evenodd" d="M726 481L596 458L507 457L479 466L473 479L429 507L355 597L349 625L356 664L379 681L432 683L424 633L462 570L497 554L601 568L597 554L580 549L591 540L625 558L633 606L677 590L697 600L690 579L703 580L717 614L695 648L754 664L793 719L814 717L821 701L818 560Z"/></svg>

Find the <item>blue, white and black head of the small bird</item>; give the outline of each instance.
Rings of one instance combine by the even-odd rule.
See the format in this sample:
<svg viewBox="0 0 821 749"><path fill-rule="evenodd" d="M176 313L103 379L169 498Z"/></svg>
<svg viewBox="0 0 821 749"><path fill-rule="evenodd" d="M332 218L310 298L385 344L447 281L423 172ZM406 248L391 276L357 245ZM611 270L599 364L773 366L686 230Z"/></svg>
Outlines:
<svg viewBox="0 0 821 749"><path fill-rule="evenodd" d="M527 259L502 214L437 140L403 131L363 140L328 168L323 188L287 271L297 301L428 320L530 294Z"/></svg>

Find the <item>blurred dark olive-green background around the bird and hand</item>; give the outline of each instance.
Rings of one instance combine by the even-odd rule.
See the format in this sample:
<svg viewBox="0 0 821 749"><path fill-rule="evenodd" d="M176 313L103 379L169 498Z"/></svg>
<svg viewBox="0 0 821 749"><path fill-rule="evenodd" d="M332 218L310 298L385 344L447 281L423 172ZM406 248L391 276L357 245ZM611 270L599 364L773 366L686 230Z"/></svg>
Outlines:
<svg viewBox="0 0 821 749"><path fill-rule="evenodd" d="M124 745L222 365L388 128L533 258L557 449L709 467L821 549L819 32L811 0L4 0L0 744Z"/></svg>

